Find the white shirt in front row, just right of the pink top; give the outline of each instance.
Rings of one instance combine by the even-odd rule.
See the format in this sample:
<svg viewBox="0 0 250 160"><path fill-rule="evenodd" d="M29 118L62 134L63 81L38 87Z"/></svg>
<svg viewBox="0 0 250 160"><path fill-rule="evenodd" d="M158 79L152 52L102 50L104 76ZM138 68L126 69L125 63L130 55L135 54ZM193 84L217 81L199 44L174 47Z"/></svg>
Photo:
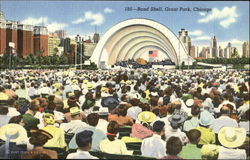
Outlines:
<svg viewBox="0 0 250 160"><path fill-rule="evenodd" d="M142 141L141 153L142 156L162 158L166 155L166 142L160 135L153 134L152 137Z"/></svg>

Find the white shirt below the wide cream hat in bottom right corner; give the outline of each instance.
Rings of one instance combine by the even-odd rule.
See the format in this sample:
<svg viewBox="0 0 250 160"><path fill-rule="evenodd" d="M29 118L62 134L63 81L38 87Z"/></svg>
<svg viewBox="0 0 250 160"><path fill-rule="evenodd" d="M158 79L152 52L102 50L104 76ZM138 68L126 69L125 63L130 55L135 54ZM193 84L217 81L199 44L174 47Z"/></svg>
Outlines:
<svg viewBox="0 0 250 160"><path fill-rule="evenodd" d="M244 149L229 149L223 146L218 146L218 159L247 159L246 151Z"/></svg>

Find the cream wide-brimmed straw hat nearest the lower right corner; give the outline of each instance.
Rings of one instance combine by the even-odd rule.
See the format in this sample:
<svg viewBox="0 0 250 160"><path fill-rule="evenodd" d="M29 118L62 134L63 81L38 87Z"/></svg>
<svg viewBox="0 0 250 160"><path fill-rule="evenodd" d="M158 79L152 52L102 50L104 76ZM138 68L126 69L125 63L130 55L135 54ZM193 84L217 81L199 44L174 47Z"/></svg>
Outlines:
<svg viewBox="0 0 250 160"><path fill-rule="evenodd" d="M246 139L246 130L244 128L223 127L218 133L220 143L228 148L241 146Z"/></svg>

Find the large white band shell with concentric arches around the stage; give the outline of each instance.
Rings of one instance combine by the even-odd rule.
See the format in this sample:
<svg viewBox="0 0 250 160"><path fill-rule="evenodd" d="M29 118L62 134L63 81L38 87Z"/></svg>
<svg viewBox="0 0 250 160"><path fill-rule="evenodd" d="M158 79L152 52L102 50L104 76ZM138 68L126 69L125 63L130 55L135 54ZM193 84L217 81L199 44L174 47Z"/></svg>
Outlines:
<svg viewBox="0 0 250 160"><path fill-rule="evenodd" d="M157 50L159 59L170 59L176 65L191 65L184 44L166 26L150 19L128 19L111 27L98 42L90 60L99 68L109 68L118 61L147 58Z"/></svg>

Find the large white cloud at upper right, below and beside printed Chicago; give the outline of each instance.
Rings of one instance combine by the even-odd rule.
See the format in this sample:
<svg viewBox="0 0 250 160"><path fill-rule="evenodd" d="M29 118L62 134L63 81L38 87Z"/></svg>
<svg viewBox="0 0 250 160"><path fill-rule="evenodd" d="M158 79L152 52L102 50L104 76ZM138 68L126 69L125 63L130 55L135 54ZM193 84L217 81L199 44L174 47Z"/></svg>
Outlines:
<svg viewBox="0 0 250 160"><path fill-rule="evenodd" d="M213 20L219 20L220 25L224 28L228 28L231 24L237 21L237 7L232 6L224 7L222 10L213 8L211 14L207 15L204 18L198 19L198 23L208 23Z"/></svg>

